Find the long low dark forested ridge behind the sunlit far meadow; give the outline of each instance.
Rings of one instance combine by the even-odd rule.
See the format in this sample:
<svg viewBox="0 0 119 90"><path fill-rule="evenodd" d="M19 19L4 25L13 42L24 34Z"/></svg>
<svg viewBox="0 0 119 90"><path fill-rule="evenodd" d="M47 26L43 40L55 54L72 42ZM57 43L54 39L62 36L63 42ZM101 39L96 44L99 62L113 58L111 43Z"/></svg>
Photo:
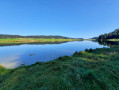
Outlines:
<svg viewBox="0 0 119 90"><path fill-rule="evenodd" d="M6 35L6 34L0 34L0 38L45 38L45 39L69 39L69 37L64 37L64 36L58 36L58 35L30 35L30 36L21 36L21 35Z"/></svg>

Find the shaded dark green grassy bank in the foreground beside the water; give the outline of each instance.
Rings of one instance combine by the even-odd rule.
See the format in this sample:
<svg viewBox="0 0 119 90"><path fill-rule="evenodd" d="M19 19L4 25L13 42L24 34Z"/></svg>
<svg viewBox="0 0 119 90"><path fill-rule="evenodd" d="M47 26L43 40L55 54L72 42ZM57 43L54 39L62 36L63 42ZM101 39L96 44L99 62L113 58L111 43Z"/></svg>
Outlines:
<svg viewBox="0 0 119 90"><path fill-rule="evenodd" d="M90 49L16 69L0 66L0 90L119 90L119 48Z"/></svg>

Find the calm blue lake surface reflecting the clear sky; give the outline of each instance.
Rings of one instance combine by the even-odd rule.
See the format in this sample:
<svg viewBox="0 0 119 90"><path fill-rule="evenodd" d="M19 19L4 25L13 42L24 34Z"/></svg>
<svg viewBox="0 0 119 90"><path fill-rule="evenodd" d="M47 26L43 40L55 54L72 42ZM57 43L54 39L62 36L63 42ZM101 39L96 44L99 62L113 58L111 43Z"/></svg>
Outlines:
<svg viewBox="0 0 119 90"><path fill-rule="evenodd" d="M61 56L71 56L76 51L102 47L105 46L93 41L0 45L0 64L6 68L16 68L21 64L47 62Z"/></svg>

